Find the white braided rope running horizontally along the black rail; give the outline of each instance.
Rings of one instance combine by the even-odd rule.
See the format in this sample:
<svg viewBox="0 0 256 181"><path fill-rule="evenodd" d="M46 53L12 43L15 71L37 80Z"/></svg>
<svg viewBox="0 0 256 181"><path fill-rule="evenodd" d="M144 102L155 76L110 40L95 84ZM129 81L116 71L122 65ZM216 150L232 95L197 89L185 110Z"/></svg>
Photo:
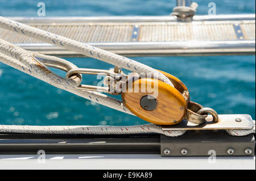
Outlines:
<svg viewBox="0 0 256 181"><path fill-rule="evenodd" d="M163 131L159 125L143 124L134 126L28 126L0 125L0 133L31 134L138 134L159 133L166 136L181 136L186 131Z"/></svg>

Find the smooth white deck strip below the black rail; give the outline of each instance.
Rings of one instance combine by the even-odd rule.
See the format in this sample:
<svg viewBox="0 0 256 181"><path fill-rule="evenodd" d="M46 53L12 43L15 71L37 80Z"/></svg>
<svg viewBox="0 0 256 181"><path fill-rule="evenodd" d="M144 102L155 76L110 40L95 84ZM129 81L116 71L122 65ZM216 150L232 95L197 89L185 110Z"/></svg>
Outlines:
<svg viewBox="0 0 256 181"><path fill-rule="evenodd" d="M39 159L38 159L39 158ZM2 169L255 170L255 157L161 157L158 154L0 155Z"/></svg>

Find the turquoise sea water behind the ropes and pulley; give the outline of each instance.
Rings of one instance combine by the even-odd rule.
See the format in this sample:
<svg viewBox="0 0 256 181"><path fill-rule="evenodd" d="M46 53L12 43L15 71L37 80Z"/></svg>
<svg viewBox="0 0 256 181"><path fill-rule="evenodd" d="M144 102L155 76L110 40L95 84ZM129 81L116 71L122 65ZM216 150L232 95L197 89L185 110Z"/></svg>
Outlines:
<svg viewBox="0 0 256 181"><path fill-rule="evenodd" d="M42 1L46 16L168 15L175 1ZM196 1L197 14L216 2L217 14L255 13L255 1ZM1 16L36 16L38 1L0 0ZM109 69L92 58L65 58L80 68ZM191 100L218 113L247 113L255 119L255 56L133 57L171 73L191 92ZM58 72L63 74L62 72ZM84 83L96 85L96 77ZM146 121L59 90L0 63L0 124L134 125Z"/></svg>

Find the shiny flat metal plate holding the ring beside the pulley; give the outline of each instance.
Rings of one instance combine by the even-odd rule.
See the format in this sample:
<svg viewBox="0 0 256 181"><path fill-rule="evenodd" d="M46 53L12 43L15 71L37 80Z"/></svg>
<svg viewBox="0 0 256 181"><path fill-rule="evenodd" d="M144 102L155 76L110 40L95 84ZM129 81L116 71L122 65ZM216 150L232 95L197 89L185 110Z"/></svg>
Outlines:
<svg viewBox="0 0 256 181"><path fill-rule="evenodd" d="M253 120L250 115L218 115L218 123L212 122L212 116L208 115L203 124L194 124L187 120L182 120L175 125L162 125L163 131L170 130L209 130L209 129L251 129Z"/></svg>

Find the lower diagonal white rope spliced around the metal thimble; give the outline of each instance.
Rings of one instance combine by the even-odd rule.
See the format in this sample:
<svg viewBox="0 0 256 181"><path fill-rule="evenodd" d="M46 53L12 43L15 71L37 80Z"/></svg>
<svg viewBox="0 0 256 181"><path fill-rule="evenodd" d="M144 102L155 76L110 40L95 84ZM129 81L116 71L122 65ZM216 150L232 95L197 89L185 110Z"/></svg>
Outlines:
<svg viewBox="0 0 256 181"><path fill-rule="evenodd" d="M1 52L7 55L2 54ZM4 64L12 66L13 68L23 71L24 73L27 73L29 75L32 75L33 77L36 77L55 87L58 87L59 89L72 92L73 94L79 95L82 98L89 99L93 102L97 102L115 110L133 115L133 113L131 113L130 110L126 108L125 104L123 104L121 100L112 98L108 95L101 94L100 92L96 91L84 91L76 89L75 87L77 87L80 83L77 77L67 79L61 78L58 75L53 74L50 70L45 68L42 64L40 64L33 58L34 54L35 53L33 52L29 52L18 46L10 44L5 40L0 39L0 61L2 61ZM65 61L61 58L57 59Z"/></svg>

